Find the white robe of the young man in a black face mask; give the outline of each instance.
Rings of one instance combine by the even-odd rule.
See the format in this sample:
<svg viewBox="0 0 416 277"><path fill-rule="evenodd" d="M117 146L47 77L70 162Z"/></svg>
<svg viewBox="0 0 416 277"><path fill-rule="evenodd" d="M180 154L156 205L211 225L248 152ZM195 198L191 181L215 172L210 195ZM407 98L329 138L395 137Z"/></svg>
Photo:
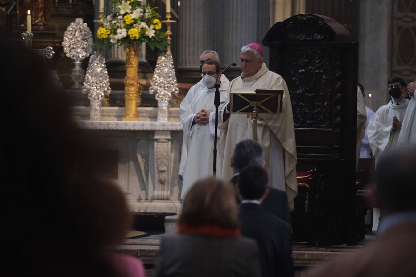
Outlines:
<svg viewBox="0 0 416 277"><path fill-rule="evenodd" d="M382 152L397 144L403 126L401 130L391 132L391 125L395 116L403 122L408 105L409 101L403 105L394 105L390 101L388 104L382 105L371 118L367 127L367 135L371 151L376 157L376 164Z"/></svg>

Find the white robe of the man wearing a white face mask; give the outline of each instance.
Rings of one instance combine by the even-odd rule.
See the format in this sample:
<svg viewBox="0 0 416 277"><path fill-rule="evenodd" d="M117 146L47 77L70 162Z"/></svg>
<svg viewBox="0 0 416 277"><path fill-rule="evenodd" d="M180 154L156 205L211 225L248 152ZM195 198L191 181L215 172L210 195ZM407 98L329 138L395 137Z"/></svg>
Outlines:
<svg viewBox="0 0 416 277"><path fill-rule="evenodd" d="M225 76L221 78L221 103L229 101L229 84L230 81ZM215 88L208 89L200 81L189 89L181 103L181 122L183 124L183 151L181 157L181 163L183 163L183 185L181 199L185 197L186 192L196 180L213 176L215 131L214 96ZM206 125L192 124L193 117L202 109L213 111L210 114L209 123ZM220 137L220 134L220 131L218 131L218 137ZM217 153L217 175L221 176L219 156Z"/></svg>

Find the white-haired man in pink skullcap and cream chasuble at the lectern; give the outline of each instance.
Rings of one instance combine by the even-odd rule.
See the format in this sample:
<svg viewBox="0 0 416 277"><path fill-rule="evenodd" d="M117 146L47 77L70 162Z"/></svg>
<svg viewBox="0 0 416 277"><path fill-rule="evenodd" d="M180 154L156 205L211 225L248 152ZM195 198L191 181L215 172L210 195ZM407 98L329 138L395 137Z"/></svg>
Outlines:
<svg viewBox="0 0 416 277"><path fill-rule="evenodd" d="M263 50L257 43L243 46L240 53L242 74L231 81L231 91L239 88L263 88L282 90L282 113L259 114L257 121L257 140L265 152L265 169L270 176L270 186L286 191L289 207L293 210L293 199L297 195L296 143L293 124L292 104L287 85L282 76L267 69L263 63ZM229 116L229 118L228 118ZM220 110L219 128L220 159L223 161L221 178L230 180L233 168L230 160L235 145L241 140L253 139L252 123L245 114L229 114L228 104Z"/></svg>

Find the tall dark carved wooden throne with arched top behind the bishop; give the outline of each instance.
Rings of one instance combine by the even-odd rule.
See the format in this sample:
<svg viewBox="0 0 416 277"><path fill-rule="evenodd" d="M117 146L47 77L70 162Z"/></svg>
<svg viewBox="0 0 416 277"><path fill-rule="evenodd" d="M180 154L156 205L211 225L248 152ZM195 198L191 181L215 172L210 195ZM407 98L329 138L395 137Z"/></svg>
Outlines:
<svg viewBox="0 0 416 277"><path fill-rule="evenodd" d="M293 240L353 244L358 43L332 18L295 15L262 42L270 70L286 81L295 123L297 170L311 171L292 213ZM306 199L306 200L305 200Z"/></svg>

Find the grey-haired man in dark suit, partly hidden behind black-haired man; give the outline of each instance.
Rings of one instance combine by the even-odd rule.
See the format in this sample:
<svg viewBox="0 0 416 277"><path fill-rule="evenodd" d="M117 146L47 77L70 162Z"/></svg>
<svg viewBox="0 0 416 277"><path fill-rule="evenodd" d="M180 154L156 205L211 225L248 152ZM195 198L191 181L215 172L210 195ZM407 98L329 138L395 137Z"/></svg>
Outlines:
<svg viewBox="0 0 416 277"><path fill-rule="evenodd" d="M235 145L233 157L231 157L231 167L234 169L231 183L234 185L238 182L239 172L249 166L257 165L263 167L263 149L258 142L254 140L242 140ZM285 191L280 191L269 187L269 194L262 201L262 206L266 211L274 214L290 224L289 206L287 204L287 195Z"/></svg>

